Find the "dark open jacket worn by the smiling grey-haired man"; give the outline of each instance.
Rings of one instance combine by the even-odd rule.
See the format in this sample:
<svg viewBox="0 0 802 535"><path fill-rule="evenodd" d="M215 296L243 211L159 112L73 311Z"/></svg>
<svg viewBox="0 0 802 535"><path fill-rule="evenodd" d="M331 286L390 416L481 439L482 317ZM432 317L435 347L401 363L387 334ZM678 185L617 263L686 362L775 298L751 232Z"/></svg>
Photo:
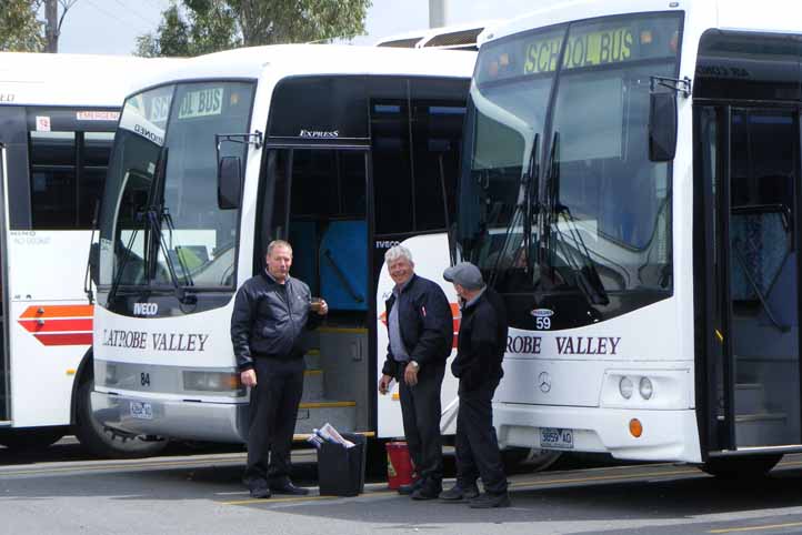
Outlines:
<svg viewBox="0 0 802 535"><path fill-rule="evenodd" d="M402 296L399 327L410 360L420 364L421 369L427 364L445 362L454 344L454 319L443 290L429 279L412 275L402 290ZM388 325L394 304L394 294L384 302ZM397 364L388 344L381 373L395 376L395 370Z"/></svg>

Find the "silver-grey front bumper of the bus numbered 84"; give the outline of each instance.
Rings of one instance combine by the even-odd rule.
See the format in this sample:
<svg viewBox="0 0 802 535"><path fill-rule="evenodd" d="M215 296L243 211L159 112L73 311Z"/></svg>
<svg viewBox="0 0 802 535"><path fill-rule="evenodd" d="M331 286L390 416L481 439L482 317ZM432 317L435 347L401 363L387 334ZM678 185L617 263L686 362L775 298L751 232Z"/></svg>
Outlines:
<svg viewBox="0 0 802 535"><path fill-rule="evenodd" d="M141 398L92 392L92 413L102 425L138 435L244 443L248 403Z"/></svg>

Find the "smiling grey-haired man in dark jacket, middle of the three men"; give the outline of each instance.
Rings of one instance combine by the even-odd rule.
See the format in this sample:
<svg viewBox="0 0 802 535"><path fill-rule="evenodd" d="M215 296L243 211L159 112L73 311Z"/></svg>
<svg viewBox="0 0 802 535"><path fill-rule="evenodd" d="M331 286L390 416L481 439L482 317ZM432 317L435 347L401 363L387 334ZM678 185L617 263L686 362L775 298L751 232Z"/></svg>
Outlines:
<svg viewBox="0 0 802 535"><path fill-rule="evenodd" d="M453 316L442 289L415 275L407 248L390 249L384 261L395 287L385 303L390 344L379 392L388 392L391 378L399 382L404 436L420 477L399 492L434 499L442 491L440 387L454 340Z"/></svg>

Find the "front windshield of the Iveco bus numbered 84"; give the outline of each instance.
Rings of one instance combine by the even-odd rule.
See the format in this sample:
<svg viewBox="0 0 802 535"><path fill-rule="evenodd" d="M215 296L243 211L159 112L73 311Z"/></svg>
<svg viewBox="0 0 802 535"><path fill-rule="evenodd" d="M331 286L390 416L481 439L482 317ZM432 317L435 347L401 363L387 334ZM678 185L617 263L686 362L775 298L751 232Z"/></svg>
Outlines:
<svg viewBox="0 0 802 535"><path fill-rule="evenodd" d="M253 85L160 87L126 101L100 219L100 285L233 289L238 210L218 205L214 134L244 133ZM220 155L247 144L224 142Z"/></svg>

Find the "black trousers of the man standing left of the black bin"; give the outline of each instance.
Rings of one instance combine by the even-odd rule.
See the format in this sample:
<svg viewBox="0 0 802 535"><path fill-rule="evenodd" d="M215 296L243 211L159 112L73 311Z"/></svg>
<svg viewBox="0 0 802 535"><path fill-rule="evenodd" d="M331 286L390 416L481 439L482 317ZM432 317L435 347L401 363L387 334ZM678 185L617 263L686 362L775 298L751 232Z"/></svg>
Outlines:
<svg viewBox="0 0 802 535"><path fill-rule="evenodd" d="M281 484L290 476L292 435L303 394L305 363L303 359L257 357L253 369L257 385L251 388L244 480Z"/></svg>

